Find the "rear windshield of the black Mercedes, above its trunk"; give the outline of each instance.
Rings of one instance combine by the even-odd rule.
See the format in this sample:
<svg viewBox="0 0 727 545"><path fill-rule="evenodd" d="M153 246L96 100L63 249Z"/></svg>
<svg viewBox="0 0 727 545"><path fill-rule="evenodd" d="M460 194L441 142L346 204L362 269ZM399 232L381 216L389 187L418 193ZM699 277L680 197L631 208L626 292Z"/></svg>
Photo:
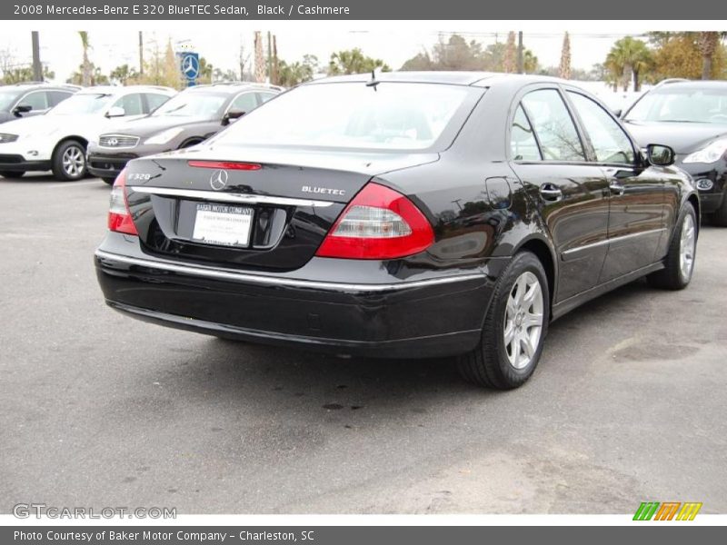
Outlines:
<svg viewBox="0 0 727 545"><path fill-rule="evenodd" d="M422 150L472 108L483 89L447 84L308 84L245 115L219 144ZM469 102L469 104L467 104Z"/></svg>

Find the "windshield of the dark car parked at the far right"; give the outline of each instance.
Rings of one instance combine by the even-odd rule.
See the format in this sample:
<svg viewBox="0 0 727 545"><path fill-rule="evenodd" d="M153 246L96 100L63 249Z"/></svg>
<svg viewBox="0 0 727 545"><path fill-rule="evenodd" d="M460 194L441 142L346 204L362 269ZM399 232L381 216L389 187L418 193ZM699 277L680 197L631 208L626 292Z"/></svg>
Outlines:
<svg viewBox="0 0 727 545"><path fill-rule="evenodd" d="M651 93L634 104L627 121L727 123L727 86L724 89L670 87Z"/></svg>

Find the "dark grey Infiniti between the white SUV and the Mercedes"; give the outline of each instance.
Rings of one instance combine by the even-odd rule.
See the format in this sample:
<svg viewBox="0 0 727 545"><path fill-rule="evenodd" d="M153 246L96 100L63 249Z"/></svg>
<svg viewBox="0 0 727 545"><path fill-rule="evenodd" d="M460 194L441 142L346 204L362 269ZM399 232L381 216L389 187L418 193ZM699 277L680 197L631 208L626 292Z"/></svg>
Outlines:
<svg viewBox="0 0 727 545"><path fill-rule="evenodd" d="M199 144L282 90L245 83L190 87L152 114L119 124L89 143L88 171L114 183L131 159Z"/></svg>

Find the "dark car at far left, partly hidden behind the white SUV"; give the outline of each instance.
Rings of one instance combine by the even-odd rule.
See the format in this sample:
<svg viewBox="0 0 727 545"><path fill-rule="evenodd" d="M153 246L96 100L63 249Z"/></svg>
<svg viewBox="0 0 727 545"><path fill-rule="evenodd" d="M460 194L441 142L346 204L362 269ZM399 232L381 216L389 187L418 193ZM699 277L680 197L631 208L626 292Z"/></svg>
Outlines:
<svg viewBox="0 0 727 545"><path fill-rule="evenodd" d="M45 114L80 89L78 85L55 85L43 82L3 85L0 87L0 124L19 117Z"/></svg>

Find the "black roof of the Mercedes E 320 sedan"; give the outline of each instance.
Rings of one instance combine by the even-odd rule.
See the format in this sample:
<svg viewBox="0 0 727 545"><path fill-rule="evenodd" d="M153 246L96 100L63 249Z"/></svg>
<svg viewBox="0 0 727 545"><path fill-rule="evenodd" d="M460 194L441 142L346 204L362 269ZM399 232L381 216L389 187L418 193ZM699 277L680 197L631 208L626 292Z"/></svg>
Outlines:
<svg viewBox="0 0 727 545"><path fill-rule="evenodd" d="M530 74L502 74L495 72L376 72L376 81L380 82L402 82L417 84L453 84L473 85L477 87L491 87L497 84L530 84L538 82L556 82L571 84L567 80L547 75ZM334 75L314 80L309 84L344 83L344 82L367 82L372 77L371 73Z"/></svg>

